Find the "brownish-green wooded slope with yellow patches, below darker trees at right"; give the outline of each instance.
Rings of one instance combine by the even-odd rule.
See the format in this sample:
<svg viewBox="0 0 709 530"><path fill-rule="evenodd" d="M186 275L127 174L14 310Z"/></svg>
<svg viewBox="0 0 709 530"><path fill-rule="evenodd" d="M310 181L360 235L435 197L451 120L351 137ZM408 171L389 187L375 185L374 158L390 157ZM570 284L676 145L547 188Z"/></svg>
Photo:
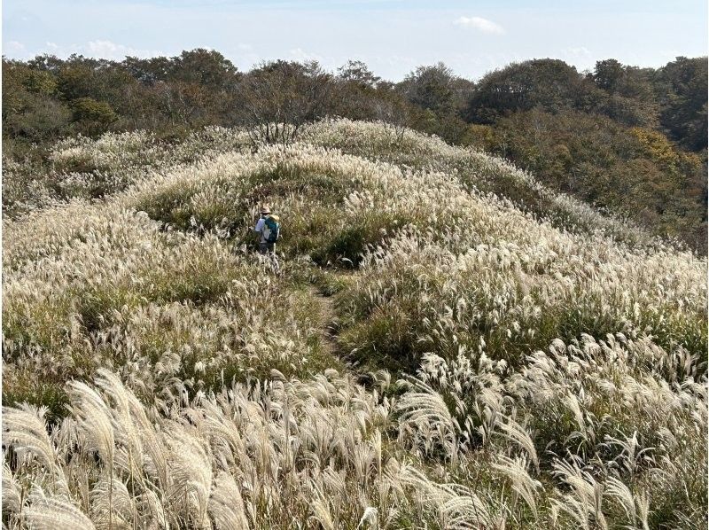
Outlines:
<svg viewBox="0 0 709 530"><path fill-rule="evenodd" d="M516 113L479 144L553 189L705 253L705 163L651 129L567 111Z"/></svg>

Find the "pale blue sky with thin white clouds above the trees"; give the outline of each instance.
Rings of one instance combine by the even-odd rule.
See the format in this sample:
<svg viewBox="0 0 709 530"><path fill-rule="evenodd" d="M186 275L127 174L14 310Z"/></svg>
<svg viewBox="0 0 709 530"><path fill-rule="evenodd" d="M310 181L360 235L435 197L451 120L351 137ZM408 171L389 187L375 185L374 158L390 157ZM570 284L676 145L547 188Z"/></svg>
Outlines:
<svg viewBox="0 0 709 530"><path fill-rule="evenodd" d="M391 81L438 61L472 80L529 58L658 67L709 45L706 0L4 0L2 43L19 59L208 48L240 70L358 59Z"/></svg>

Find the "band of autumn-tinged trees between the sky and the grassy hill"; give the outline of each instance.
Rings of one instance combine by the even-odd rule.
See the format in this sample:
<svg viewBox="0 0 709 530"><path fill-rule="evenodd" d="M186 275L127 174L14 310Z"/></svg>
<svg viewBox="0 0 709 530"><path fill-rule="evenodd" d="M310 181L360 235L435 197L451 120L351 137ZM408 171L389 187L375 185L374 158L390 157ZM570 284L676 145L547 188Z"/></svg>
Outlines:
<svg viewBox="0 0 709 530"><path fill-rule="evenodd" d="M109 130L148 129L169 141L208 125L247 126L260 141L289 141L328 115L483 148L706 251L705 57L660 68L606 59L591 72L534 59L478 82L438 63L396 83L361 61L333 73L284 60L241 72L203 49L123 61L3 59L3 154L15 159L61 136Z"/></svg>

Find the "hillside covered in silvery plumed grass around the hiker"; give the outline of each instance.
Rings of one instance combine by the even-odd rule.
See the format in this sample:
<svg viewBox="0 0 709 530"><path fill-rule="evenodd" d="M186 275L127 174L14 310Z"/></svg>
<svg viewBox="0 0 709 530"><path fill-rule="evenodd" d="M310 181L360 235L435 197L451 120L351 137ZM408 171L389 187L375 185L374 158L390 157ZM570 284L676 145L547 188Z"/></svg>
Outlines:
<svg viewBox="0 0 709 530"><path fill-rule="evenodd" d="M382 123L50 158L4 175L7 527L704 524L705 258Z"/></svg>

